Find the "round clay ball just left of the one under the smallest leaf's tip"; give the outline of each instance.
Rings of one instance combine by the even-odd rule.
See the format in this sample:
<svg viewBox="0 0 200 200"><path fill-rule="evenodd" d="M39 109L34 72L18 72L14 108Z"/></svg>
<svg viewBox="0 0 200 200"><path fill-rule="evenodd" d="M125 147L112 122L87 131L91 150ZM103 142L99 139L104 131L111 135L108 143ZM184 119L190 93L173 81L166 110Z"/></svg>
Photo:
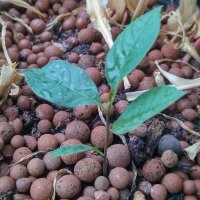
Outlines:
<svg viewBox="0 0 200 200"><path fill-rule="evenodd" d="M31 176L38 177L44 173L45 165L43 160L39 158L33 158L27 164L27 169Z"/></svg>

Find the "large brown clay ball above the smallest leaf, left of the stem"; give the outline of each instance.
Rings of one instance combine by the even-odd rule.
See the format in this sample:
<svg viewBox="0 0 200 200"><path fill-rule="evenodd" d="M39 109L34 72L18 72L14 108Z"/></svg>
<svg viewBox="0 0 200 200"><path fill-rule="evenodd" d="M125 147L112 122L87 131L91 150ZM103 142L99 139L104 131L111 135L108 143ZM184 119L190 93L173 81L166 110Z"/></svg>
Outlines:
<svg viewBox="0 0 200 200"><path fill-rule="evenodd" d="M86 142L90 138L90 129L83 121L73 121L69 123L65 130L66 139L77 139Z"/></svg>

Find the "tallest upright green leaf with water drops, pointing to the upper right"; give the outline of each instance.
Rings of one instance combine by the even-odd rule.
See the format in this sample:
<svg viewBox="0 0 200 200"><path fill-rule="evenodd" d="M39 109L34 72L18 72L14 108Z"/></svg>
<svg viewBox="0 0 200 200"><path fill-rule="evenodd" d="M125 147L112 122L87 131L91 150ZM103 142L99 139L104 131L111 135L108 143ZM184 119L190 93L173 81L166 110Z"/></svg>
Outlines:
<svg viewBox="0 0 200 200"><path fill-rule="evenodd" d="M119 35L106 58L106 78L113 92L144 58L160 31L161 7L144 14Z"/></svg>

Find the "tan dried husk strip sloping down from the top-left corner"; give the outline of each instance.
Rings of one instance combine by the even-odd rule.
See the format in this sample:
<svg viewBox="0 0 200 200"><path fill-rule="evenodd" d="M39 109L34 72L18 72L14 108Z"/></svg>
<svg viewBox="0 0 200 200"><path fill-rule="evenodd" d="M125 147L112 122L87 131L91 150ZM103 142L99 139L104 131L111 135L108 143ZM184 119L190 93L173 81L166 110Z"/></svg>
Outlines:
<svg viewBox="0 0 200 200"><path fill-rule="evenodd" d="M15 6L26 8L26 9L29 9L32 12L36 13L39 17L45 17L45 14L41 13L34 6L29 5L27 2L25 2L23 0L0 0L0 2L10 3L10 4L13 4Z"/></svg>

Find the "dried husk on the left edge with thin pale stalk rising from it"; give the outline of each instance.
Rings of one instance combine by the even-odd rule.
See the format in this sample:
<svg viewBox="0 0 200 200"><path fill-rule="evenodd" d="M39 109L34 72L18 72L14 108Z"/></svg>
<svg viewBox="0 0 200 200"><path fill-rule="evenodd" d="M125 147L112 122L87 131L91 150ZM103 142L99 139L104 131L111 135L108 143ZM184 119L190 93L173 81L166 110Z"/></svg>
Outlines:
<svg viewBox="0 0 200 200"><path fill-rule="evenodd" d="M19 92L19 87L16 85L22 76L17 73L17 63L12 63L5 44L6 37L6 23L0 17L0 24L2 25L1 38L2 49L6 58L6 61L0 61L0 106L6 100L8 95L16 95ZM11 90L12 89L12 90ZM11 91L11 92L10 92Z"/></svg>

